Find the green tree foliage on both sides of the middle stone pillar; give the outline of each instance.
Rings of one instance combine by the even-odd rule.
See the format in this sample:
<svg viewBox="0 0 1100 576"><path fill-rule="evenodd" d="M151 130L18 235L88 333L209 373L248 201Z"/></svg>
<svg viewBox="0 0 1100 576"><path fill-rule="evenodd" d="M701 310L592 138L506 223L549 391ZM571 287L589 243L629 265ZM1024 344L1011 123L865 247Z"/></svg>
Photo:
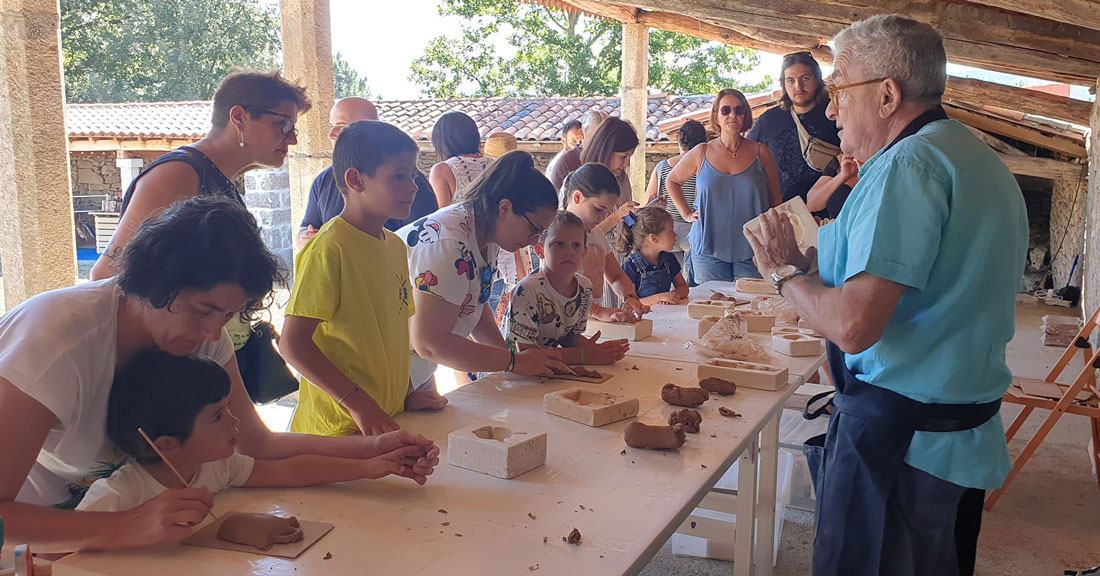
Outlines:
<svg viewBox="0 0 1100 576"><path fill-rule="evenodd" d="M458 37L439 36L413 63L410 79L432 98L614 96L622 77L623 27L515 0L440 0L439 12L466 20ZM515 51L497 54L496 38ZM722 88L759 91L735 79L756 52L651 30L649 86L689 95Z"/></svg>

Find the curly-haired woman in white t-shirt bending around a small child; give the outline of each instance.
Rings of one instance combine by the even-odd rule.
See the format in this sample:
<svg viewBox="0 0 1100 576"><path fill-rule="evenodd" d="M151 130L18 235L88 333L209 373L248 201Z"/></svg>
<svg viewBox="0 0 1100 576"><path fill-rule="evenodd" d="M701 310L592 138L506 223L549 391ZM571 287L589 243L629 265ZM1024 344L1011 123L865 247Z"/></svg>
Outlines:
<svg viewBox="0 0 1100 576"><path fill-rule="evenodd" d="M167 490L128 512L68 511L123 461L107 440L108 398L117 368L144 350L200 354L226 369L243 454L371 457L430 447L411 433L272 433L250 409L223 326L265 308L284 274L239 202L178 202L145 221L119 262L113 278L41 293L0 319L0 517L9 541L43 553L143 546L180 540L207 516L210 495L198 488Z"/></svg>

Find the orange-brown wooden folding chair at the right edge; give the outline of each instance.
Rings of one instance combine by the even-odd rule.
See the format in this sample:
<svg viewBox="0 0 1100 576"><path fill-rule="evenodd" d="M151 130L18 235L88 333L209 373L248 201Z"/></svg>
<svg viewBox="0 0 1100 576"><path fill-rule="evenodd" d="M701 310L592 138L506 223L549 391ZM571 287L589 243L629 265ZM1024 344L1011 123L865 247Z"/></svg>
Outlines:
<svg viewBox="0 0 1100 576"><path fill-rule="evenodd" d="M1048 398L1040 398L1035 396L1015 396L1011 391L1004 395L1004 402L1011 402L1021 405L1024 408L1016 416L1015 420L1012 421L1012 425L1005 432L1007 441L1011 442L1012 436L1020 431L1027 417L1036 409L1041 408L1044 410L1049 410L1050 413L1047 414L1046 420L1040 425L1035 435L1027 441L1024 450L1016 456L1016 459L1012 463L1012 470L1009 472L1008 477L1004 478L1004 484L1000 488L991 491L988 497L986 497L986 510L991 510L997 500L1001 498L1004 490L1008 489L1009 484L1020 474L1020 469L1027 464L1032 455L1038 448L1040 444L1046 440L1046 435L1050 433L1054 425L1058 423L1058 419L1062 418L1064 413L1080 414L1090 419L1091 431L1092 431L1092 446L1090 447L1089 457L1092 458L1092 464L1096 466L1097 470L1100 470L1100 405L1098 405L1098 398L1100 398L1100 390L1097 389L1097 378L1096 369L1100 368L1100 351L1092 352L1092 345L1089 343L1089 335L1092 330L1097 328L1097 318L1100 315L1100 308L1092 312L1092 317L1089 318L1081 330L1077 333L1074 341L1066 346L1066 351L1062 353L1062 357L1058 358L1057 364L1050 368L1050 373L1046 375L1044 381L1054 384L1062 389L1062 397L1057 400L1052 400ZM1074 357L1076 351L1081 351L1081 357L1085 359L1085 366L1081 368L1080 374L1070 385L1058 384L1056 380L1066 366L1069 365L1070 359ZM1013 377L1013 380L1021 378ZM1080 405L1076 401L1077 395L1082 390L1091 391L1093 398L1089 400L1087 406ZM1100 479L1097 481L1097 488L1100 489Z"/></svg>

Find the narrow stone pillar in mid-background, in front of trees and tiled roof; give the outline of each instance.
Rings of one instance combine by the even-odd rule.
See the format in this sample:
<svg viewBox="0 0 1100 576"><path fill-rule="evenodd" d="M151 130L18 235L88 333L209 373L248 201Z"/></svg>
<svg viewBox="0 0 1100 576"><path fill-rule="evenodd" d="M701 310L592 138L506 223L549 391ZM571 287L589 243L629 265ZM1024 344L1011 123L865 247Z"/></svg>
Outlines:
<svg viewBox="0 0 1100 576"><path fill-rule="evenodd" d="M646 193L646 126L649 117L649 26L623 24L623 88L619 114L638 132L638 149L630 158L630 187L635 200Z"/></svg>

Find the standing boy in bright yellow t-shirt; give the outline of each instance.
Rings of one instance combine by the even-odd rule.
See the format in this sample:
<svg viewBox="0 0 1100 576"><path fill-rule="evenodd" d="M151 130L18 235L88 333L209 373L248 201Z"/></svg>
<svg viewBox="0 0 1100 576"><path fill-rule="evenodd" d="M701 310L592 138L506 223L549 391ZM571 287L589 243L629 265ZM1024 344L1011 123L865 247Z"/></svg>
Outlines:
<svg viewBox="0 0 1100 576"><path fill-rule="evenodd" d="M413 298L405 243L383 228L408 218L417 145L384 122L345 128L332 153L344 209L296 262L279 350L301 373L292 432L329 436L397 430L405 409L444 402L409 385Z"/></svg>

